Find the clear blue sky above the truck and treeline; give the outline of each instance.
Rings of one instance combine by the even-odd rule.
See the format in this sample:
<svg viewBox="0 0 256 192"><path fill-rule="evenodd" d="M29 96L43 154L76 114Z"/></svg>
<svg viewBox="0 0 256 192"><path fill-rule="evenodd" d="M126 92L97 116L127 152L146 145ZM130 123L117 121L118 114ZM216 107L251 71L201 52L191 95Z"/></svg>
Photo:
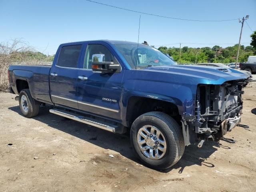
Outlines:
<svg viewBox="0 0 256 192"><path fill-rule="evenodd" d="M95 0L127 9L194 20L227 20L250 15L256 30L256 0ZM64 42L127 40L137 42L140 14L85 0L0 0L0 42L24 38L44 54L54 54ZM189 22L141 14L140 42L150 45L222 47L238 43L241 24ZM244 23L241 44L252 31ZM48 45L48 46L47 46Z"/></svg>

